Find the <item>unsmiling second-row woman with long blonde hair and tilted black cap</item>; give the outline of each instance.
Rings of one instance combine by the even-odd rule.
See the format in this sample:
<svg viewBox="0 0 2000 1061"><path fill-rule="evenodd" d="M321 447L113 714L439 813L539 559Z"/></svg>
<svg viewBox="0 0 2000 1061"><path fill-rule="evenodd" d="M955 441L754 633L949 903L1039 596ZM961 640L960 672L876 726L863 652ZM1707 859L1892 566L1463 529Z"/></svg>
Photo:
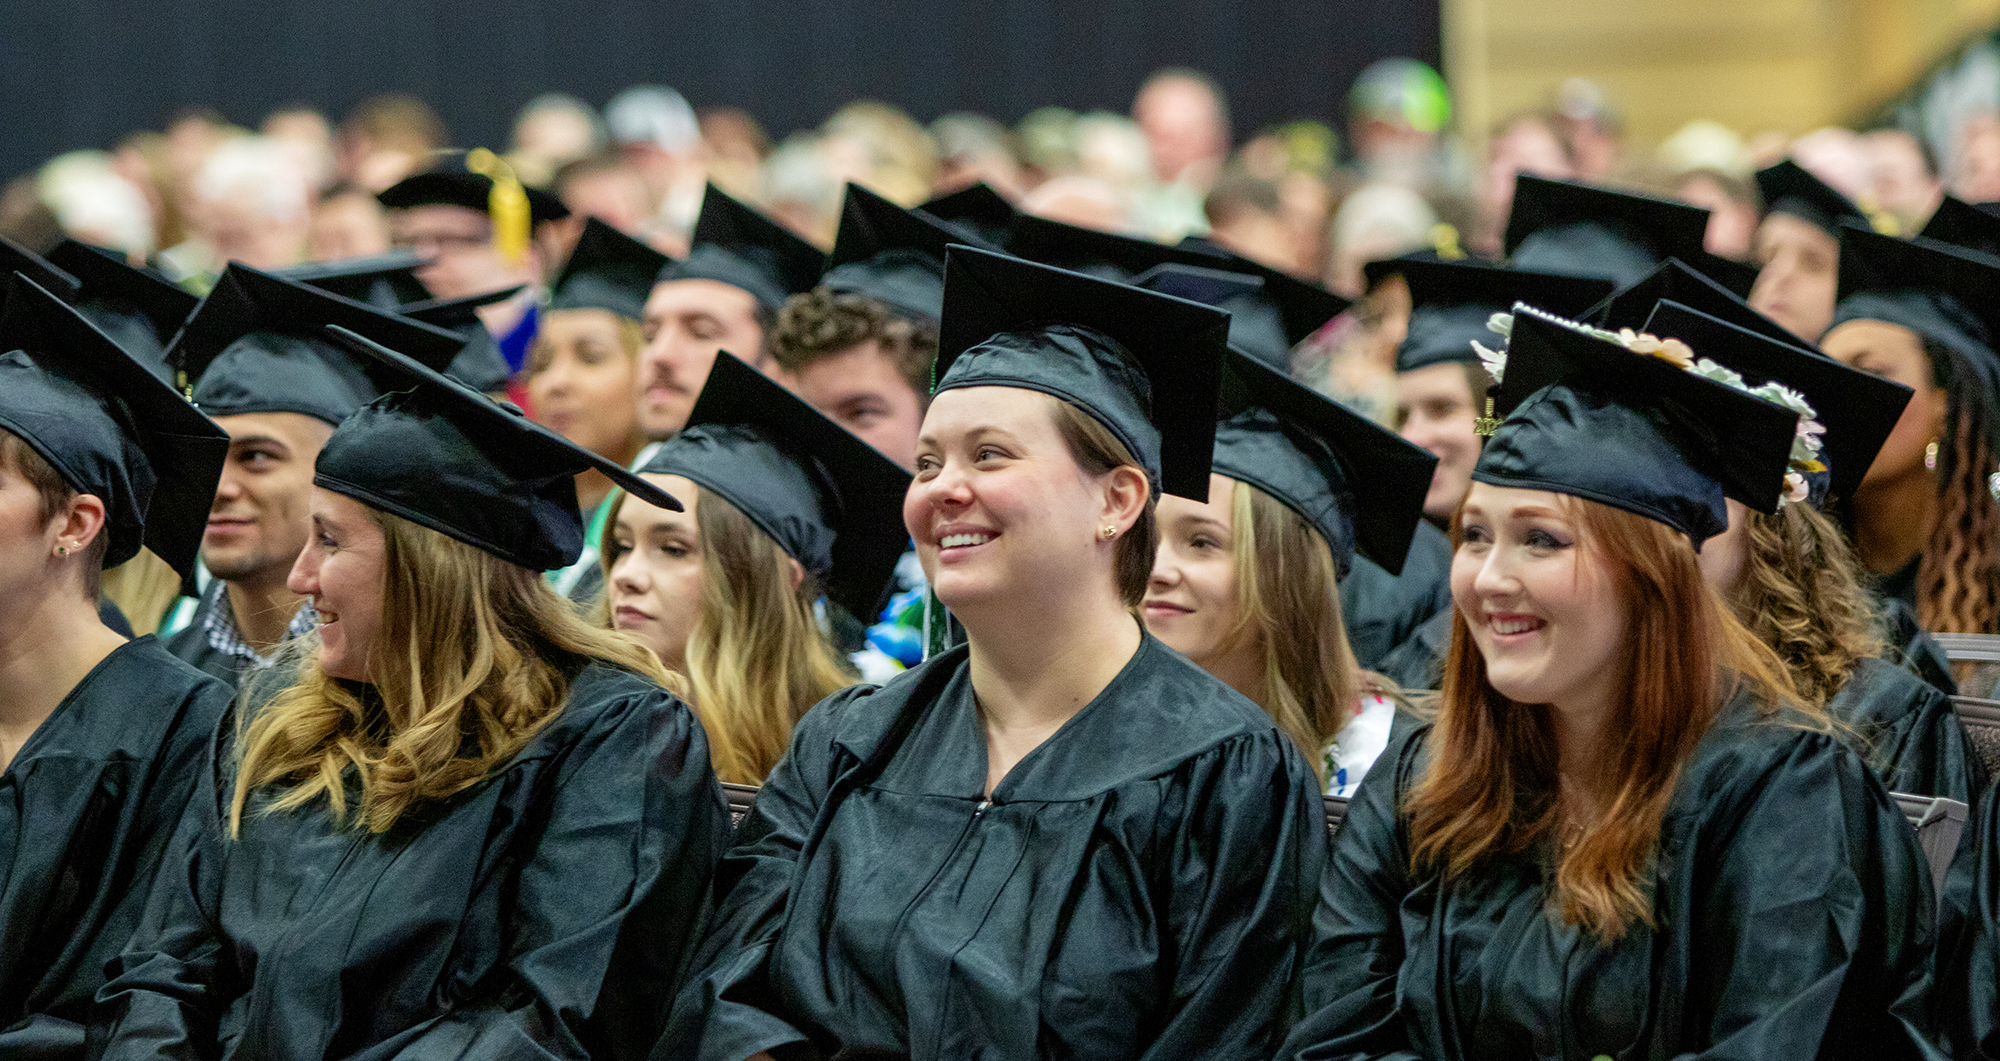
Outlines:
<svg viewBox="0 0 2000 1061"><path fill-rule="evenodd" d="M716 777L762 785L800 715L858 681L818 603L880 609L910 472L728 352L638 470L684 508L610 500L610 621L686 675Z"/></svg>

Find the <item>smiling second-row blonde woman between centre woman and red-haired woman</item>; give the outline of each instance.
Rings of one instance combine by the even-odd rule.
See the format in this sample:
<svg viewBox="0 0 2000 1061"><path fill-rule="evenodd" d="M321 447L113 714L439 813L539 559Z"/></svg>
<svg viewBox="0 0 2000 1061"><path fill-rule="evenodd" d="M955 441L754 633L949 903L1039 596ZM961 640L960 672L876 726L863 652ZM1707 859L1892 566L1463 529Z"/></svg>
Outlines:
<svg viewBox="0 0 2000 1061"><path fill-rule="evenodd" d="M1436 460L1234 348L1224 410L1208 500L1160 498L1146 633L1250 697L1348 797L1416 715L1356 667L1338 585L1356 551L1402 567Z"/></svg>

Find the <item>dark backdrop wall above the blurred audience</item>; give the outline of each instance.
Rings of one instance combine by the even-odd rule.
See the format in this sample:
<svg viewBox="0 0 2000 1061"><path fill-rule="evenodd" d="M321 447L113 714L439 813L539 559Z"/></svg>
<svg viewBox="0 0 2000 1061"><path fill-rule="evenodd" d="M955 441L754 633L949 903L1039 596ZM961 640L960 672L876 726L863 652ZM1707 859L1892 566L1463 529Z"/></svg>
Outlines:
<svg viewBox="0 0 2000 1061"><path fill-rule="evenodd" d="M536 94L602 106L636 82L780 138L854 98L926 122L1122 112L1150 70L1194 66L1242 140L1336 120L1368 62L1440 50L1438 0L0 0L0 180L188 106L338 120L384 90L428 100L460 146L502 146Z"/></svg>

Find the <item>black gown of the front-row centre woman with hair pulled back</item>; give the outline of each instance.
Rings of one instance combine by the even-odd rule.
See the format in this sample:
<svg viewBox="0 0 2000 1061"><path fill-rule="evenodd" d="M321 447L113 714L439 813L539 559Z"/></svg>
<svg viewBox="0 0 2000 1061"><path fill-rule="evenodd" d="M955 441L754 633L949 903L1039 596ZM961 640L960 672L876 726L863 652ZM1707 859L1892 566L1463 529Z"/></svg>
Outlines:
<svg viewBox="0 0 2000 1061"><path fill-rule="evenodd" d="M1254 703L1146 637L984 787L966 649L814 707L654 1057L1270 1057L1326 823Z"/></svg>

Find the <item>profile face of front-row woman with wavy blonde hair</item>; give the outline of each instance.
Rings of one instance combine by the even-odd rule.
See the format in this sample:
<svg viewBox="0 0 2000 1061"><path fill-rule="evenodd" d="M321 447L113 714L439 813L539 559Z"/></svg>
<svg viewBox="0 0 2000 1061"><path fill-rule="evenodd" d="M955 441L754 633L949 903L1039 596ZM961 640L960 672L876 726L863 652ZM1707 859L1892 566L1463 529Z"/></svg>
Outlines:
<svg viewBox="0 0 2000 1061"><path fill-rule="evenodd" d="M320 613L320 669L344 681L374 681L382 637L388 543L362 502L312 488L312 535L286 581Z"/></svg>

